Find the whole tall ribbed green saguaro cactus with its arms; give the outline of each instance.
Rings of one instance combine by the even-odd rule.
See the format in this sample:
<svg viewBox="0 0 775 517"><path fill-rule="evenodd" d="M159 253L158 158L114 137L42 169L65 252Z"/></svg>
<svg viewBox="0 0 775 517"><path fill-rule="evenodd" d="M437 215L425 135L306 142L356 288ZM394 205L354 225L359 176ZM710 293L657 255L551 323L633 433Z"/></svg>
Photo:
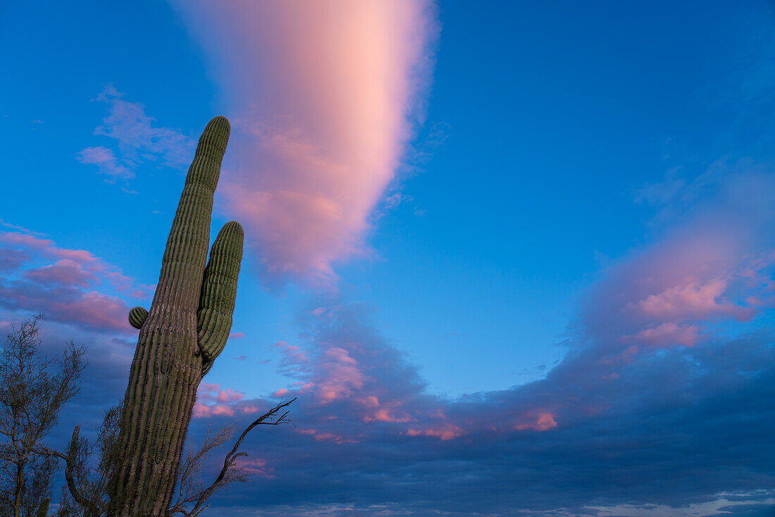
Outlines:
<svg viewBox="0 0 775 517"><path fill-rule="evenodd" d="M215 117L188 169L150 312L129 312L140 336L119 436L125 460L108 488L114 517L164 515L199 382L229 337L243 251L238 222L223 226L205 267L212 196L228 140L229 121Z"/></svg>

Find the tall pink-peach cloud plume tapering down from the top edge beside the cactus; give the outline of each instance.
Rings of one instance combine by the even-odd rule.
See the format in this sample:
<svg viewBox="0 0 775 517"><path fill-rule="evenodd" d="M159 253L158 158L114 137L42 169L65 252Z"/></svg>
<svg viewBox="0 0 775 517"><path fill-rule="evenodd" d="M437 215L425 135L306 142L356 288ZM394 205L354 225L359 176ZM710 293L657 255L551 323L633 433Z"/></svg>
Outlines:
<svg viewBox="0 0 775 517"><path fill-rule="evenodd" d="M331 284L422 111L438 32L429 0L173 1L226 94L219 190L270 281Z"/></svg>

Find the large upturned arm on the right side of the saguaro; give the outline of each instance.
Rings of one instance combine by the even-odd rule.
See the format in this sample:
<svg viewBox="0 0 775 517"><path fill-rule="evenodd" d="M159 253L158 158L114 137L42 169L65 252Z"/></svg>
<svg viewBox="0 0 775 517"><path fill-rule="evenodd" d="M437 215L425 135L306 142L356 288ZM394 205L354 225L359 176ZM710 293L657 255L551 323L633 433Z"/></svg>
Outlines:
<svg viewBox="0 0 775 517"><path fill-rule="evenodd" d="M232 328L243 237L239 222L227 222L212 244L210 260L205 267L197 319L199 350L208 370L226 346Z"/></svg>

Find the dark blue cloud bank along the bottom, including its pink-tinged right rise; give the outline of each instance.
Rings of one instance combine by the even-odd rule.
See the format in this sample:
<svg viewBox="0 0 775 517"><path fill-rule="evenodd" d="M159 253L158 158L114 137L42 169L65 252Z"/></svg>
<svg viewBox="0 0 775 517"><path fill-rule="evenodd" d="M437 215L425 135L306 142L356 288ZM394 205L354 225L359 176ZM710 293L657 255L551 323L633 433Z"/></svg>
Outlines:
<svg viewBox="0 0 775 517"><path fill-rule="evenodd" d="M336 297L312 305L301 339L277 343L294 381L273 396L299 397L298 427L251 437L248 452L274 477L221 504L661 517L770 501L773 329L750 323L773 306L775 211L735 208L737 195L775 188L760 172L727 171L670 231L612 260L569 326L567 357L529 384L429 395L366 310ZM734 224L717 224L732 212ZM274 402L220 402L224 392L210 391L202 417L247 422L240 408Z"/></svg>

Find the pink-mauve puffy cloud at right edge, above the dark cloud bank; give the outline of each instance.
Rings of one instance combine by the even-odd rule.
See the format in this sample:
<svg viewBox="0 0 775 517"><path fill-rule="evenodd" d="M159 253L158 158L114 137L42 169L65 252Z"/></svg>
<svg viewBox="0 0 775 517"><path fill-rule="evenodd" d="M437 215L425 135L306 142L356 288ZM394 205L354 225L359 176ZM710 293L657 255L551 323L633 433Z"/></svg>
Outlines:
<svg viewBox="0 0 775 517"><path fill-rule="evenodd" d="M608 267L577 320L600 344L596 362L610 370L655 348L697 346L718 322L760 314L773 302L775 253L757 226L708 210Z"/></svg>

